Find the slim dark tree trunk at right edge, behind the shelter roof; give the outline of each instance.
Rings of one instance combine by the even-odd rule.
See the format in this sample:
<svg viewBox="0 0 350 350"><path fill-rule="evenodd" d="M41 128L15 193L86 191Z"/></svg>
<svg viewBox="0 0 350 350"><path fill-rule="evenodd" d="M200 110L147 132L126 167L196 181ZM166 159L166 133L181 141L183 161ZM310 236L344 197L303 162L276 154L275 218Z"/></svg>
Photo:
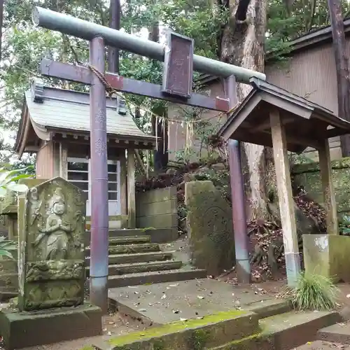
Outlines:
<svg viewBox="0 0 350 350"><path fill-rule="evenodd" d="M342 3L340 0L328 0L330 23L332 25L335 69L337 72L338 116L350 121L350 82L349 57L347 55ZM350 156L350 135L340 137L342 156Z"/></svg>

